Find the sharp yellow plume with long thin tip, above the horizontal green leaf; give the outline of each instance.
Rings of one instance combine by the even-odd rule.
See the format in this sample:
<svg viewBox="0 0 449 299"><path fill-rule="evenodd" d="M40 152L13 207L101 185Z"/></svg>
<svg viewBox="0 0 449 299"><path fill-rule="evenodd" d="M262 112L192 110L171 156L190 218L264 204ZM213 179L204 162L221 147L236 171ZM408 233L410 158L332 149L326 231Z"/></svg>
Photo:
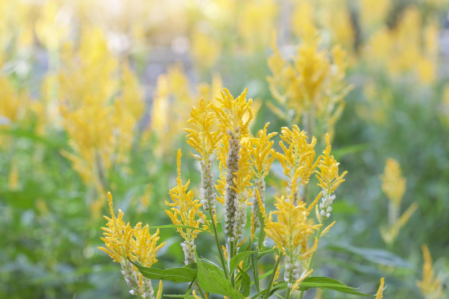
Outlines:
<svg viewBox="0 0 449 299"><path fill-rule="evenodd" d="M178 176L176 178L176 186L170 191L170 197L172 202L165 201L167 206L170 206L170 210L165 210L168 217L172 220L174 225L185 225L207 229L208 222L206 216L199 210L201 203L198 199L194 199L194 193L192 190L187 192L190 180L185 185L181 181L181 150L178 150L176 156L176 165ZM197 217L198 216L198 217ZM181 243L182 250L184 251L185 264L196 262L195 258L195 238L201 232L200 230L190 228L177 228L181 237L184 238L184 242Z"/></svg>

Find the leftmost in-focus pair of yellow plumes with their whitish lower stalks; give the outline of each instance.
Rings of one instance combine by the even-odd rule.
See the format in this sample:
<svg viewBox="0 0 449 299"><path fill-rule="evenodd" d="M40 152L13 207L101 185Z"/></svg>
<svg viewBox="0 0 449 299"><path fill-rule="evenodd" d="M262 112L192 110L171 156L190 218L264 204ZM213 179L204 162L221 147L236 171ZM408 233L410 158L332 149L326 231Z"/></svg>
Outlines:
<svg viewBox="0 0 449 299"><path fill-rule="evenodd" d="M136 228L132 228L129 222L125 224L122 210L119 209L119 215L116 217L110 192L108 192L108 202L111 217L103 216L108 223L107 227L101 228L105 231L103 233L105 237L101 240L105 242L106 248L98 247L98 249L106 252L114 262L121 265L122 274L131 289L129 291L131 295L137 295L142 299L153 299L154 290L151 280L143 277L129 260L150 267L158 261L156 253L165 242L157 245L159 230L150 234L148 224L142 227L142 223L139 222Z"/></svg>

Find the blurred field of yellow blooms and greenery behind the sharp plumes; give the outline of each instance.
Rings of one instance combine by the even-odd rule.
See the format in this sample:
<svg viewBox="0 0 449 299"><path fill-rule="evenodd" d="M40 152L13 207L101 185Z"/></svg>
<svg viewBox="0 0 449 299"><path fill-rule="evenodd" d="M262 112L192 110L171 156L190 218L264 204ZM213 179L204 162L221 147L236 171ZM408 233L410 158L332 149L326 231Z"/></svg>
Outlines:
<svg viewBox="0 0 449 299"><path fill-rule="evenodd" d="M127 221L169 224L182 129L221 87L248 87L252 134L270 121L333 136L348 174L321 274L372 293L385 276L386 298L423 298L427 244L447 293L448 13L445 0L0 0L0 297L126 298L96 249L106 192ZM299 100L307 72L326 100ZM176 230L160 236L158 267L182 264Z"/></svg>

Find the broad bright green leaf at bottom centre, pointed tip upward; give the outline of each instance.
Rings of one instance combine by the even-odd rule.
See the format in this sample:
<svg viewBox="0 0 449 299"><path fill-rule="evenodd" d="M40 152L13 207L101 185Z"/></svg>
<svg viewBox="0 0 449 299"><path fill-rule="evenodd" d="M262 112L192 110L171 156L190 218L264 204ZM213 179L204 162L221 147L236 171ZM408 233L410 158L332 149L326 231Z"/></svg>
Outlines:
<svg viewBox="0 0 449 299"><path fill-rule="evenodd" d="M231 282L225 278L225 273L221 269L210 267L206 269L207 263L204 263L195 251L198 266L198 283L199 286L207 293L224 295L233 299L244 299L245 297L238 290L235 290ZM211 264L210 264L211 265Z"/></svg>

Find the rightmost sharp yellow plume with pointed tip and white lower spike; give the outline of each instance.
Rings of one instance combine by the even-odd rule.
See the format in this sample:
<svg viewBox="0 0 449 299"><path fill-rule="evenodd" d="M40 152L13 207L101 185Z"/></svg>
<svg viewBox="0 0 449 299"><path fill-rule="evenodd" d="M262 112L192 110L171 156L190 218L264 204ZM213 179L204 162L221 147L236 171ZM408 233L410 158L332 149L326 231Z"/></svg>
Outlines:
<svg viewBox="0 0 449 299"><path fill-rule="evenodd" d="M348 171L345 170L339 175L338 166L340 163L330 154L331 146L329 139L329 134L326 134L326 149L323 151L323 155L321 155L321 160L318 164L319 170L315 171L319 181L318 186L323 189L323 197L321 198L320 204L320 217L324 217L325 219L330 217L330 212L332 211L330 205L335 199L335 194L333 193L338 186L344 182L343 178L346 173L348 173Z"/></svg>

